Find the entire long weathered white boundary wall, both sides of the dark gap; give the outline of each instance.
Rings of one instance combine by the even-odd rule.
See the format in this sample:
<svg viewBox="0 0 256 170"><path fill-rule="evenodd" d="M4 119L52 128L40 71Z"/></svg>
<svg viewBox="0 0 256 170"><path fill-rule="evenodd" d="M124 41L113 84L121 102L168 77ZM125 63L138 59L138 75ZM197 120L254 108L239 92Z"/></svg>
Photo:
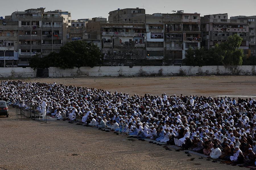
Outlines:
<svg viewBox="0 0 256 170"><path fill-rule="evenodd" d="M196 75L256 75L255 65L244 66L116 66L80 67L74 69L49 68L49 77L102 76L196 76ZM0 77L36 77L36 70L26 67L0 68Z"/></svg>

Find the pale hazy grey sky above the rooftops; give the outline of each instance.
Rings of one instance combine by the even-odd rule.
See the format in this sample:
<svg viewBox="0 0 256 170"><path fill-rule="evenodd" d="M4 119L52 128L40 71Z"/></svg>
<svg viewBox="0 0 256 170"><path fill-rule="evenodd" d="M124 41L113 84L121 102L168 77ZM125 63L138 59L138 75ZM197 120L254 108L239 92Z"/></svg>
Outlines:
<svg viewBox="0 0 256 170"><path fill-rule="evenodd" d="M3 1L3 0L2 0ZM4 5L5 4L5 5ZM117 8L144 8L146 14L172 13L184 10L185 13L207 14L228 13L228 16L256 15L256 0L9 0L0 5L0 16L11 15L15 10L46 8L45 11L61 9L71 12L72 20L102 16Z"/></svg>

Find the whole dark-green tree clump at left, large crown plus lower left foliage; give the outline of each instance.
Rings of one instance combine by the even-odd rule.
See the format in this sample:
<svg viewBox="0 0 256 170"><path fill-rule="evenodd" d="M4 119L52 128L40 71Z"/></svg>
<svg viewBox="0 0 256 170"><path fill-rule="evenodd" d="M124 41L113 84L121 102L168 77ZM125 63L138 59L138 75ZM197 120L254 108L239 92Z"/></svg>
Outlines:
<svg viewBox="0 0 256 170"><path fill-rule="evenodd" d="M61 67L62 69L75 66L94 67L102 63L103 55L100 49L88 42L72 41L61 47L60 52L51 52L48 56L40 58L36 55L30 59L29 65L32 68Z"/></svg>

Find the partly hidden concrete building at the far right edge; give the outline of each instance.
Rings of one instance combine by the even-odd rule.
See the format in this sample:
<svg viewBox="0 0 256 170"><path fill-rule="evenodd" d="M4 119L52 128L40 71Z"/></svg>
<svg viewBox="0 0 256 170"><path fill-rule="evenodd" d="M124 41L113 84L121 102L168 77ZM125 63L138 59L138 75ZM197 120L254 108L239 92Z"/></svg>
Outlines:
<svg viewBox="0 0 256 170"><path fill-rule="evenodd" d="M249 24L249 50L248 56L255 56L255 41L256 41L256 16L233 16L230 17L230 20L242 20L243 22L247 22ZM246 53L247 54L247 53Z"/></svg>

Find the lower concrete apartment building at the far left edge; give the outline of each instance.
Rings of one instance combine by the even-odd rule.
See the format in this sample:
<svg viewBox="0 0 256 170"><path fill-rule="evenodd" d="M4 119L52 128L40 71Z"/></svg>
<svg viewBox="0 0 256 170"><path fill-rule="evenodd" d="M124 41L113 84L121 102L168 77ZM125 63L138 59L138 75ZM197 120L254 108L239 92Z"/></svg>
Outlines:
<svg viewBox="0 0 256 170"><path fill-rule="evenodd" d="M18 60L18 22L0 19L0 64L13 67Z"/></svg>

